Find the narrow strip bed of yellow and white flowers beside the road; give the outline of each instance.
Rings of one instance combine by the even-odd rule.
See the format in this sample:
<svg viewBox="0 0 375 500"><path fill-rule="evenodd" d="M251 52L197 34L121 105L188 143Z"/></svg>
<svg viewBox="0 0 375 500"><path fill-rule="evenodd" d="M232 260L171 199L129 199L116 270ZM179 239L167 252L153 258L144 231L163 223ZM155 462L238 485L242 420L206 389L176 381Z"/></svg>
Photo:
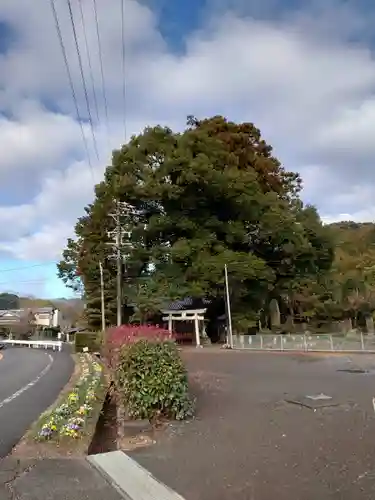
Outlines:
<svg viewBox="0 0 375 500"><path fill-rule="evenodd" d="M85 434L88 423L96 413L98 393L103 389L103 371L89 354L81 354L79 362L79 380L63 402L39 423L35 434L37 441L78 439Z"/></svg>

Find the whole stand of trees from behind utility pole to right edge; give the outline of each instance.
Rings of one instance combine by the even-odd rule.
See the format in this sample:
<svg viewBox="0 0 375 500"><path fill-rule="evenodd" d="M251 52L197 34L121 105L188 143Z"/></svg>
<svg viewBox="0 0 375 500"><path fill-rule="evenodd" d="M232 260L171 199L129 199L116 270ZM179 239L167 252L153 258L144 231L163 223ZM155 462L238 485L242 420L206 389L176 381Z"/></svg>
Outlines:
<svg viewBox="0 0 375 500"><path fill-rule="evenodd" d="M89 327L99 329L101 262L106 318L115 323L117 211L130 320L150 321L187 296L209 299L222 314L226 264L237 330L278 326L278 317L290 325L360 322L375 309L375 230L365 231L358 262L357 238L339 241L353 233L350 224L323 225L301 187L251 123L189 117L182 133L146 128L113 152L59 276L82 293Z"/></svg>

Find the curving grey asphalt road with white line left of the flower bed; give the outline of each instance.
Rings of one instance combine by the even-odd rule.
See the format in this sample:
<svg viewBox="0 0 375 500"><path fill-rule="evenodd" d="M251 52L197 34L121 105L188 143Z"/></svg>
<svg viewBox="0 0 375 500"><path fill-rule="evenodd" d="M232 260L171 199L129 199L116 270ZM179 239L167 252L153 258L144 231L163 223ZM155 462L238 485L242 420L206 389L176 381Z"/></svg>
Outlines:
<svg viewBox="0 0 375 500"><path fill-rule="evenodd" d="M68 352L8 348L0 360L0 458L10 453L68 382Z"/></svg>

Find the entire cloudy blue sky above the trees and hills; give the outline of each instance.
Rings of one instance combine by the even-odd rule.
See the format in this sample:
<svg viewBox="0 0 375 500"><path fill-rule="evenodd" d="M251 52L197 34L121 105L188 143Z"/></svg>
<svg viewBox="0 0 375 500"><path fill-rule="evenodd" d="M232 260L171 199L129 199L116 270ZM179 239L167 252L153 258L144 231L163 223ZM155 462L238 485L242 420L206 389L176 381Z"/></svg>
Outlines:
<svg viewBox="0 0 375 500"><path fill-rule="evenodd" d="M111 151L187 115L255 123L325 222L374 220L374 2L124 0L124 104L121 0L96 0L107 121L94 0L70 1L98 155L68 0L54 3L79 116L50 0L0 2L0 291L71 296L56 262Z"/></svg>

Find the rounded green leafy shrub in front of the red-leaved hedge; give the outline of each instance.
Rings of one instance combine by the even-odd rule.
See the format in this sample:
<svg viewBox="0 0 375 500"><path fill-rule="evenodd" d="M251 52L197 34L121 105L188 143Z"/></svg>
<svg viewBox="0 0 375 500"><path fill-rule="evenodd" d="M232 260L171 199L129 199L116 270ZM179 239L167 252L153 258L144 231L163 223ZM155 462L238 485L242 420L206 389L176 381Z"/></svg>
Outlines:
<svg viewBox="0 0 375 500"><path fill-rule="evenodd" d="M174 343L139 340L123 347L116 374L130 417L182 420L192 415L187 372Z"/></svg>

